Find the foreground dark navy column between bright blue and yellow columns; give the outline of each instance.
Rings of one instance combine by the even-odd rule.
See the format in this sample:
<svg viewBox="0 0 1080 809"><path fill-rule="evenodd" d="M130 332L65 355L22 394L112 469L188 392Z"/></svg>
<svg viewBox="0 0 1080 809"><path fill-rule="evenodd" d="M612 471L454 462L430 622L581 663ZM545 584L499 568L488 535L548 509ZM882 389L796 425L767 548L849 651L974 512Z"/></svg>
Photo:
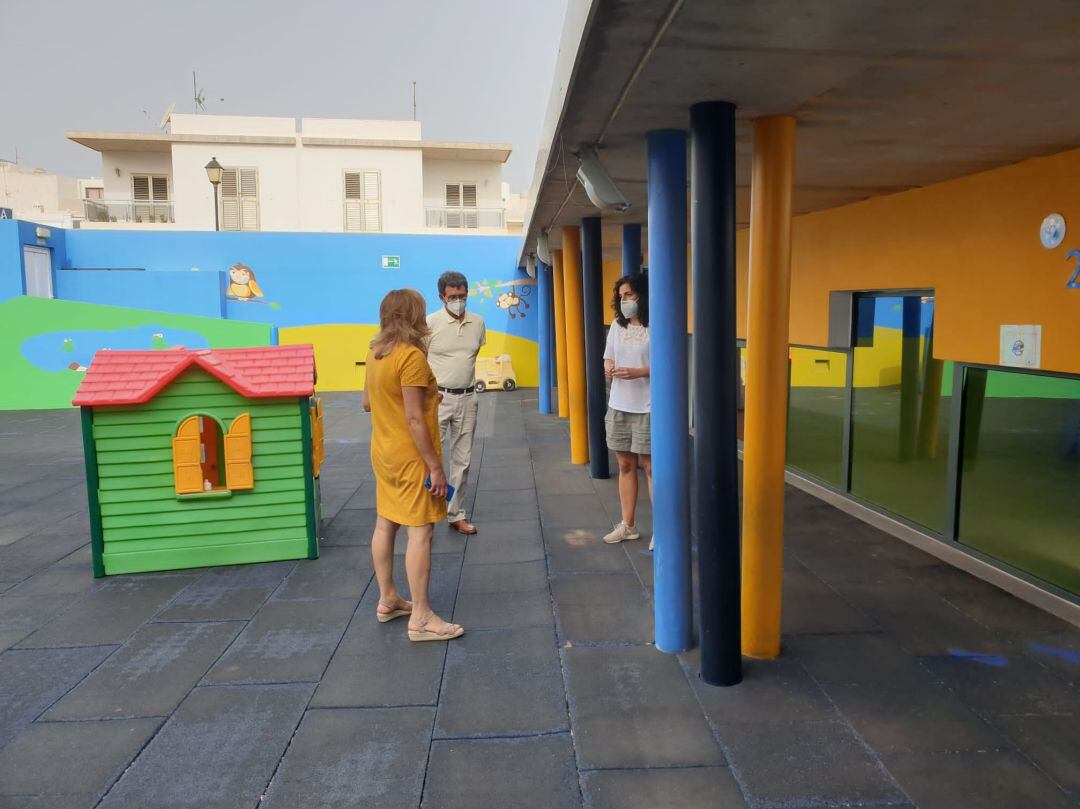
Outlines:
<svg viewBox="0 0 1080 809"><path fill-rule="evenodd" d="M733 686L742 680L733 104L690 107L690 200L701 678Z"/></svg>

